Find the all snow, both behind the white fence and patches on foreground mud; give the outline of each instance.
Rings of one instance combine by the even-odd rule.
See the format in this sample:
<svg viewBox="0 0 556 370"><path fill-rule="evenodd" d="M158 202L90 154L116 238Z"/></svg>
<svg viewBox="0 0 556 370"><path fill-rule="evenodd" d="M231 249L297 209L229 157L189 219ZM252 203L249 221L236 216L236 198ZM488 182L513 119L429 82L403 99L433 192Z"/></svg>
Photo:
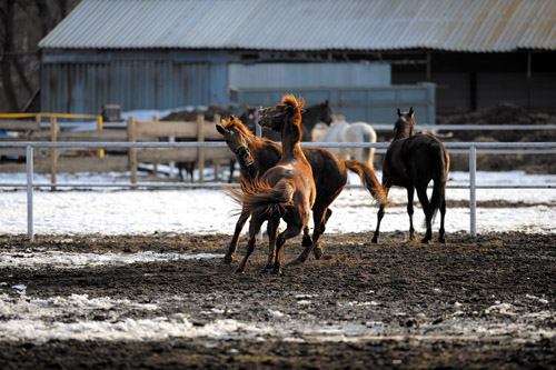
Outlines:
<svg viewBox="0 0 556 370"><path fill-rule="evenodd" d="M126 173L108 174L64 174L59 182L108 182L127 181ZM380 173L377 173L380 178ZM0 174L0 183L23 183L24 174ZM36 182L49 182L48 177L36 176ZM351 183L357 177L350 178ZM450 174L449 184L467 184L468 173ZM494 183L556 183L556 176L528 176L522 172L489 173L479 172L478 184ZM404 190L394 189L393 200L405 204ZM469 191L449 189L448 200L469 199ZM478 208L478 232L488 231L528 231L540 233L556 232L556 189L546 190L489 190L477 191L477 201L507 200L523 202L525 206L510 208ZM530 204L530 206L527 206ZM27 193L22 189L0 188L0 208L2 222L0 234L27 233ZM377 207L368 193L358 188L346 189L332 204L334 216L327 233L370 232L376 226ZM34 192L34 232L38 234L148 234L161 232L192 233L232 233L235 217L230 216L234 204L221 190L181 189L181 190L113 190L113 189L66 189L50 192ZM423 231L423 212L417 209L415 221ZM446 230L454 232L469 230L469 209L449 208ZM384 231L407 230L408 221L405 206L391 207L384 219ZM245 232L245 231L244 231ZM163 259L220 258L218 254L170 254L170 253L62 253L42 251L33 253L0 253L0 271L6 267L19 266L30 269L80 269L98 264L123 264L148 262ZM278 309L269 310L269 322L248 322L237 320L214 319L207 324L195 327L188 321L187 312L171 317L151 319L133 319L127 316L130 311L156 311L165 304L176 304L187 297L169 297L151 303L142 303L129 299L110 297L89 297L75 292L67 297L38 298L26 293L26 282L7 286L0 278L0 320L1 340L30 340L44 342L50 339L67 340L162 340L169 337L208 337L216 339L266 338L269 333L285 340L357 341L369 338L396 338L407 334L401 329L388 329L384 322L335 322L324 326L321 322L290 320ZM10 293L8 293L10 292ZM13 292L19 292L13 294ZM208 293L207 293L208 294ZM555 338L554 330L546 331L532 326L532 320L543 321L554 317L549 302L542 298L538 312L519 312L512 303L497 302L485 310L504 311L515 317L512 326L493 324L481 319L459 318L461 303L456 302L451 318L443 326L424 326L418 334L453 336L454 338L473 338L485 334L504 336L523 332L523 337L535 342L538 338ZM540 301L543 300L543 301ZM310 297L300 297L298 304L310 302ZM239 304L239 303L238 303ZM365 302L346 302L346 304L364 304L369 308L380 304L370 300ZM546 306L546 308L544 308ZM90 312L111 311L113 317L107 320L89 320ZM215 312L207 312L208 317ZM66 316L83 317L83 320L67 322ZM534 317L533 317L534 316ZM536 322L535 321L535 322ZM324 328L324 329L322 329ZM424 337L425 338L425 337Z"/></svg>

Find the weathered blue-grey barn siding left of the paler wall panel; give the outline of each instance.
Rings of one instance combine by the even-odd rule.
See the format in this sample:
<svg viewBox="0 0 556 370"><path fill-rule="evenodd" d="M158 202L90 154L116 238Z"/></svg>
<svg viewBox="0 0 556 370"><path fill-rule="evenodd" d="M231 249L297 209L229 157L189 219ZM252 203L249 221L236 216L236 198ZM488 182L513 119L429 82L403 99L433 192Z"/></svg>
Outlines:
<svg viewBox="0 0 556 370"><path fill-rule="evenodd" d="M98 114L102 104L123 111L227 104L227 64L175 61L42 64L41 109Z"/></svg>

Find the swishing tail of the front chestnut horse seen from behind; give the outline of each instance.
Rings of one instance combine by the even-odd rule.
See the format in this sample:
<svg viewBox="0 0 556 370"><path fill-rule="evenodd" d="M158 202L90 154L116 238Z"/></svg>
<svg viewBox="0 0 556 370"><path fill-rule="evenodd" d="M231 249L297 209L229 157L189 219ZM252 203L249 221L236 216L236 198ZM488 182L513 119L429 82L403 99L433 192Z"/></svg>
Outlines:
<svg viewBox="0 0 556 370"><path fill-rule="evenodd" d="M250 213L257 210L268 214L277 212L282 214L285 207L291 203L294 198L294 186L288 179L280 180L271 187L267 181L257 178L252 182L242 182L241 188L242 190L228 187L226 192L241 207L241 211Z"/></svg>

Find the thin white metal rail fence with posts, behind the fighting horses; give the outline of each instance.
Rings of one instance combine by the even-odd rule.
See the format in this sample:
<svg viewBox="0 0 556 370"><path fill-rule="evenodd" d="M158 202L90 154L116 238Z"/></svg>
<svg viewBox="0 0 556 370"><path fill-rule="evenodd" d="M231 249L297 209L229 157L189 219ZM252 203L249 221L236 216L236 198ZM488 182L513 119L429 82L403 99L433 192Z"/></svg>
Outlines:
<svg viewBox="0 0 556 370"><path fill-rule="evenodd" d="M315 143L302 142L302 147L320 148L377 148L386 151L388 142L380 143ZM469 154L469 186L448 186L449 189L469 189L469 210L470 210L470 236L476 237L476 191L477 189L555 189L556 183L539 184L488 184L480 186L476 183L477 153L489 154L556 154L556 142L447 142L445 143L449 153ZM28 238L33 238L33 189L48 187L72 187L72 188L92 188L92 187L118 187L118 188L221 188L229 184L224 183L158 183L158 182L95 182L95 183L34 183L33 182L33 149L34 148L59 148L59 149L105 149L105 148L222 148L224 142L0 142L0 148L26 148L27 154L27 181L24 183L1 183L0 187L24 188L27 189L27 216L28 216Z"/></svg>

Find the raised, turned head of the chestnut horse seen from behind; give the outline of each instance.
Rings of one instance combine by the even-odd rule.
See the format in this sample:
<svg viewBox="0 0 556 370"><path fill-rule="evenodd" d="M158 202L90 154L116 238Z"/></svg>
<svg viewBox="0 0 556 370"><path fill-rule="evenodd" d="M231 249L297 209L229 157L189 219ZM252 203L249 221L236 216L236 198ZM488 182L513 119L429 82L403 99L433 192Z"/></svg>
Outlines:
<svg viewBox="0 0 556 370"><path fill-rule="evenodd" d="M259 110L259 124L274 131L281 132L286 122L299 127L301 124L301 109L305 104L304 98L297 100L294 96L284 96L282 102L276 107Z"/></svg>

